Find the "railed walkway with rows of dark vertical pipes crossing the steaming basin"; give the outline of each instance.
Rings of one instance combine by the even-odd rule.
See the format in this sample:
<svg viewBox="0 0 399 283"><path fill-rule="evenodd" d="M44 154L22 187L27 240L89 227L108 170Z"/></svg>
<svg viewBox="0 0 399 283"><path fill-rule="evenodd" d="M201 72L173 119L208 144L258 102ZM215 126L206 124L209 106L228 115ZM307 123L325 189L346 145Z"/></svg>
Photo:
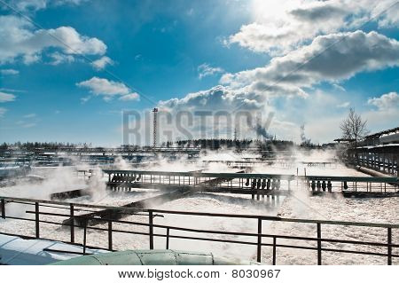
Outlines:
<svg viewBox="0 0 399 283"><path fill-rule="evenodd" d="M114 191L129 191L134 187L173 188L191 186L201 190L214 187L220 191L238 190L239 193L277 193L290 191L294 185L304 184L312 192L397 193L397 177L331 177L294 176L258 173L202 173L145 170L103 170L107 186ZM89 177L90 175L85 175ZM213 183L212 180L223 180ZM296 182L294 182L296 181ZM301 185L302 187L303 185Z"/></svg>

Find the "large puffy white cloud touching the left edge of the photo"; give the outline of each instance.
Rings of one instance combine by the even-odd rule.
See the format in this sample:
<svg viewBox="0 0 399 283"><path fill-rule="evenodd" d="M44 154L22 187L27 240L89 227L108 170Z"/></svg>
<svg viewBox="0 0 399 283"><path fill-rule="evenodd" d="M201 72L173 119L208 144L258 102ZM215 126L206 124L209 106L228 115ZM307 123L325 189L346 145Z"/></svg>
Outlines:
<svg viewBox="0 0 399 283"><path fill-rule="evenodd" d="M0 64L22 59L29 64L42 58L49 48L59 49L59 54L103 55L106 44L95 37L80 35L74 28L59 27L35 29L25 19L12 15L0 16ZM60 55L60 56L62 56Z"/></svg>

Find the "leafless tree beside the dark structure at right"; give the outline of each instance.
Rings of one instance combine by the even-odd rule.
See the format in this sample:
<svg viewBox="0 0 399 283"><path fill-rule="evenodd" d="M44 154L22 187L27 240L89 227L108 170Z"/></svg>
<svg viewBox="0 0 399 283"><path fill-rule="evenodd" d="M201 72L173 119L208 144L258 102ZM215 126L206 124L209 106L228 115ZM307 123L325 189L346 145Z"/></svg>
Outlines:
<svg viewBox="0 0 399 283"><path fill-rule="evenodd" d="M349 108L348 117L340 123L340 130L342 131L342 138L347 138L355 141L355 148L357 141L364 138L368 133L367 121L363 120L359 114L356 114L354 108ZM357 160L357 153L356 153Z"/></svg>

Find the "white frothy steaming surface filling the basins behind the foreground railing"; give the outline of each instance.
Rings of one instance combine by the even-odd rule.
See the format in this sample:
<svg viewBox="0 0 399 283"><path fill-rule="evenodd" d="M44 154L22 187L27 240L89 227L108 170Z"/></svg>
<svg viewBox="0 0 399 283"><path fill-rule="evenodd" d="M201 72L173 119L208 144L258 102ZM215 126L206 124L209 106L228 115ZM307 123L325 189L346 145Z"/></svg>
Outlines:
<svg viewBox="0 0 399 283"><path fill-rule="evenodd" d="M224 153L225 154L225 153ZM208 160L212 158L220 158L221 156L207 156ZM297 169L300 175L304 174L304 166L301 161L325 161L333 157L332 153L314 153L308 156L300 156L298 162L293 162L291 167L278 166L256 166L254 173L271 173L271 174L297 174ZM231 160L231 153L227 153L224 157L226 160ZM205 157L203 157L205 159ZM199 162L200 163L200 162ZM168 161L160 162L156 167L146 168L149 170L175 170L175 171L190 171L195 169L203 169L202 163L185 163L179 161L170 164ZM129 164L121 164L121 169L129 169ZM210 172L226 172L231 171L225 164L211 163L206 171ZM363 173L357 172L354 169L348 169L342 164L336 166L307 167L307 175L321 175L321 176L366 176ZM51 173L52 174L52 173ZM60 173L54 173L56 179ZM65 171L63 174L71 174ZM61 175L63 175L61 174ZM51 175L50 175L51 176ZM70 175L66 175L70 176ZM57 182L51 181L50 177L47 181L46 187L50 191L43 193L41 186L15 186L13 188L0 188L0 195L12 195L22 197L36 197L38 199L45 199L49 192L53 192L53 187L57 187L62 191L65 185L75 187L76 185L87 185L81 180L74 181L76 183L65 183L63 177L59 177ZM71 181L68 181L71 182ZM123 205L136 200L143 200L148 197L156 195L157 191L153 190L137 190L133 193L108 193L104 190L101 179L91 180L94 182L89 186L96 187L93 190L91 197L82 197L79 199L70 200L73 202L92 203L101 205ZM97 182L97 183L96 183ZM43 186L42 186L43 187ZM284 216L292 218L310 218L310 219L328 219L328 220L343 220L355 222L372 222L372 223L390 223L399 224L399 198L382 198L382 199L346 199L336 194L330 196L309 196L308 191L302 188L294 188L294 193L286 198L279 198L274 200L274 204L266 204L262 202L254 202L250 200L250 195L238 194L193 194L187 198L173 200L157 206L154 208L168 209L168 210L183 210L183 211L200 211L200 212L215 212L215 213L231 213L231 214L246 214L246 215L264 215L264 216ZM7 210L10 209L15 215L26 215L27 206L8 204ZM33 208L30 208L32 210ZM41 208L42 209L42 208ZM67 210L59 208L43 208L43 211L51 211L57 213L67 213ZM79 212L77 212L79 213ZM50 216L43 219L52 219ZM57 219L60 221L60 218ZM61 219L62 220L62 219ZM129 216L125 220L135 221L138 223L148 223L148 216ZM257 232L257 222L252 219L233 219L222 217L203 217L203 216L177 216L177 215L163 215L154 218L155 224L168 224L173 226L181 226L187 228L207 229L215 231L231 231L231 232ZM98 227L106 229L106 224L98 224ZM288 234L305 237L317 237L316 224L290 224L284 222L264 222L262 227L263 233ZM131 232L148 232L148 227L145 226L129 226L126 224L113 224L113 229L127 230ZM35 224L33 222L22 222L11 219L0 220L0 232L22 233L33 235L35 232ZM165 229L155 229L155 233L165 234ZM254 237L235 237L235 236L221 236L213 234L187 233L171 231L172 235L190 235L192 237L214 237L217 239L243 240L255 242ZM69 240L69 231L66 228L54 226L51 224L41 224L41 236L44 238L51 238L57 240ZM387 231L381 228L364 228L364 227L345 227L335 225L322 225L322 237L330 239L346 239L346 240L367 240L367 241L385 241L387 240ZM82 242L82 230L76 229L75 239ZM87 236L88 245L101 248L107 247L106 232L98 232L89 230ZM264 241L268 241L264 239ZM270 242L270 240L269 240ZM399 231L393 231L393 242L399 242ZM306 245L316 247L315 242L304 242L294 240L278 240L278 243ZM155 238L155 248L165 248L165 238ZM170 239L169 248L186 249L193 251L212 251L215 255L233 256L242 259L255 260L256 248L255 246L230 244L223 242L210 242L199 240L180 240ZM378 251L382 252L383 248L370 248L367 246L350 246L344 244L324 243L325 248L346 248L356 249L361 251ZM126 234L121 232L113 232L113 248L115 249L134 249L134 248L149 248L148 236ZM393 249L394 254L399 253L399 249ZM315 251L303 249L288 249L278 248L278 263L280 264L316 264L317 254ZM332 252L323 252L324 264L385 264L387 258L375 255L352 255L340 254ZM262 248L262 261L264 263L271 263L271 248ZM394 258L393 263L398 264L399 259Z"/></svg>

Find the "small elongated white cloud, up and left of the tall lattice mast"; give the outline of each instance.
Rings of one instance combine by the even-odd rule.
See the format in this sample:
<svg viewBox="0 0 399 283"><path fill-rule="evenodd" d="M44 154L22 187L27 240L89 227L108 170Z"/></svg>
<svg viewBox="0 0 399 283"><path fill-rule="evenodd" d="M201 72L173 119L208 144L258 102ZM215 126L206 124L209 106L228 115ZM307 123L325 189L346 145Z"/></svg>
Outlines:
<svg viewBox="0 0 399 283"><path fill-rule="evenodd" d="M137 100L139 98L138 94L132 92L124 83L113 82L97 76L92 77L90 80L76 83L76 85L89 89L90 93L102 96L105 100L110 100L113 97L119 97L122 100Z"/></svg>

